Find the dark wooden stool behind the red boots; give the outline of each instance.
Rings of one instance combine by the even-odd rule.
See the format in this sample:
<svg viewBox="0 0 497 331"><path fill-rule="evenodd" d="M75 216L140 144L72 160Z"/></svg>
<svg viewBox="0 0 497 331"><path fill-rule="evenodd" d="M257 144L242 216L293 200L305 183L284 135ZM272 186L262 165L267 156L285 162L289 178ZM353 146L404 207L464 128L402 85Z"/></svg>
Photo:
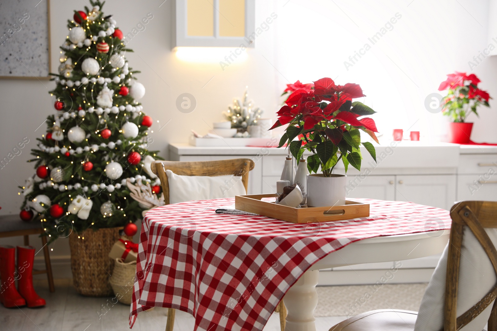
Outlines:
<svg viewBox="0 0 497 331"><path fill-rule="evenodd" d="M24 246L29 246L29 235L41 235L44 232L40 221L24 222L18 215L0 216L0 238L24 236ZM55 292L46 236L41 236L41 243L43 245L43 255L45 256L45 270L33 270L33 274L46 273L50 292Z"/></svg>

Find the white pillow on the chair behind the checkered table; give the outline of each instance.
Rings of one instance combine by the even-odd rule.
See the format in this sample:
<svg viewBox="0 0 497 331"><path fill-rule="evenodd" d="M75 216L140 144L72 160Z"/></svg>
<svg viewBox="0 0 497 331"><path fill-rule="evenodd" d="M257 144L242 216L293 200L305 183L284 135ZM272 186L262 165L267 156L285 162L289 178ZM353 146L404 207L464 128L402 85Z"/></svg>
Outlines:
<svg viewBox="0 0 497 331"><path fill-rule="evenodd" d="M181 176L166 170L169 203L234 198L246 194L241 176Z"/></svg>

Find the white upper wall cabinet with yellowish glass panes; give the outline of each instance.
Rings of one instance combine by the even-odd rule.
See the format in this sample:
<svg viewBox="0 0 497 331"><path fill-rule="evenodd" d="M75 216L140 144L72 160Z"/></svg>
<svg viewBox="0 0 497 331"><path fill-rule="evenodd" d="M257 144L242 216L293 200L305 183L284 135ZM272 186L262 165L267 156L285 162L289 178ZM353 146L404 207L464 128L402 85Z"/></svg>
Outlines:
<svg viewBox="0 0 497 331"><path fill-rule="evenodd" d="M172 47L253 47L255 0L175 0Z"/></svg>

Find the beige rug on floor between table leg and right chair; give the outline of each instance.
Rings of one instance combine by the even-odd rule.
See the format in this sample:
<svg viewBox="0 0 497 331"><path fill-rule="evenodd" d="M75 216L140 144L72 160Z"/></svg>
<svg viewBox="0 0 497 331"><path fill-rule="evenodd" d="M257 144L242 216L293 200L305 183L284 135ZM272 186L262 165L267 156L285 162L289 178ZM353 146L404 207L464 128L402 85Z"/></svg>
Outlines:
<svg viewBox="0 0 497 331"><path fill-rule="evenodd" d="M418 311L427 283L317 286L315 317L352 316L375 309Z"/></svg>

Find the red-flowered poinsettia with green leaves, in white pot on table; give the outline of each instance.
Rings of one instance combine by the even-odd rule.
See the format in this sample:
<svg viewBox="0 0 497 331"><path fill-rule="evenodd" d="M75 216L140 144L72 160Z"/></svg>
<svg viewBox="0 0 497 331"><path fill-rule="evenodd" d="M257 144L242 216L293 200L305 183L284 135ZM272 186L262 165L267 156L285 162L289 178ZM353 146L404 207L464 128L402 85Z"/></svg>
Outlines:
<svg viewBox="0 0 497 331"><path fill-rule="evenodd" d="M312 85L299 81L290 85L297 83L299 86ZM331 78L321 78L307 89L296 89L277 112L278 120L270 129L288 125L278 147L288 143L290 152L297 160L306 149L311 151L312 155L307 158L309 171L317 173L321 167L325 177L331 176L340 159L345 172L349 164L360 170L360 130L378 142L374 120L363 117L376 112L359 101L352 102L363 96L358 84L336 85ZM362 145L376 161L373 144L362 142Z"/></svg>

